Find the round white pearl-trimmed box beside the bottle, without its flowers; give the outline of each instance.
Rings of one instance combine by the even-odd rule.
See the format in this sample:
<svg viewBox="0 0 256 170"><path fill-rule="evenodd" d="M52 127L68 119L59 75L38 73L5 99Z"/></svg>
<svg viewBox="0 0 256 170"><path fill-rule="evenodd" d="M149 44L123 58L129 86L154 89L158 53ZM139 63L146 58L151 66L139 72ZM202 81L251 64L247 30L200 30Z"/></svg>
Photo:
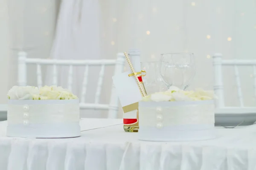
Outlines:
<svg viewBox="0 0 256 170"><path fill-rule="evenodd" d="M139 102L139 139L193 141L215 138L214 102Z"/></svg>

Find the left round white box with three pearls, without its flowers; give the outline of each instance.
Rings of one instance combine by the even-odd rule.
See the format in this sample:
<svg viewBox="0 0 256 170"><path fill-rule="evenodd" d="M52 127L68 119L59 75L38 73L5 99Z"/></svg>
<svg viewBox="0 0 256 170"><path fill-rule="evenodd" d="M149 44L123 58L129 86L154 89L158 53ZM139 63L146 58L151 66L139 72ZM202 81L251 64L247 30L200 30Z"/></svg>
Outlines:
<svg viewBox="0 0 256 170"><path fill-rule="evenodd" d="M9 137L70 138L81 136L79 99L9 100Z"/></svg>

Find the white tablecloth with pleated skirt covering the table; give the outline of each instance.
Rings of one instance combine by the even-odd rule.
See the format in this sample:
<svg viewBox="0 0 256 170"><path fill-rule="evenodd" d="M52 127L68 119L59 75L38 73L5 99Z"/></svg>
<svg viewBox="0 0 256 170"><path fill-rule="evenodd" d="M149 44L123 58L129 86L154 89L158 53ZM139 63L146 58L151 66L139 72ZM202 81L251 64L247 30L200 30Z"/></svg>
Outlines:
<svg viewBox="0 0 256 170"><path fill-rule="evenodd" d="M120 123L85 119L79 138L21 139L6 137L1 122L0 170L256 170L256 125L217 127L207 141L142 142Z"/></svg>

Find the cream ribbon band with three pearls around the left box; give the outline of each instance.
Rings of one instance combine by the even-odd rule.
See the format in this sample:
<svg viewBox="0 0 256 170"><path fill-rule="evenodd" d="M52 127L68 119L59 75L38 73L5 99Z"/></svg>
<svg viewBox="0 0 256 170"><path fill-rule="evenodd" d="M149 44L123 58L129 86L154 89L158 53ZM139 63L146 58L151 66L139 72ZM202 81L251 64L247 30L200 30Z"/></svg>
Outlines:
<svg viewBox="0 0 256 170"><path fill-rule="evenodd" d="M78 100L9 100L8 124L79 122Z"/></svg>

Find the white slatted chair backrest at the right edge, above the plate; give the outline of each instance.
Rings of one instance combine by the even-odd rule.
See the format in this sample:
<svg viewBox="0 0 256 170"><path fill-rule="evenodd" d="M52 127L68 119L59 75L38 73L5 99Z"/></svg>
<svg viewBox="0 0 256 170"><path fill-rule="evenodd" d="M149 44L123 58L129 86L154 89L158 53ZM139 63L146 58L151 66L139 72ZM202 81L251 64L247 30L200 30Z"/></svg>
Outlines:
<svg viewBox="0 0 256 170"><path fill-rule="evenodd" d="M213 66L215 72L215 85L214 91L215 95L218 99L215 101L216 108L224 108L224 89L223 89L223 79L222 79L222 66L224 65L233 65L235 78L236 78L236 86L239 97L240 107L244 107L244 100L241 91L241 82L239 77L238 66L250 66L253 68L253 77L254 77L254 94L256 96L256 60L249 59L222 59L222 54L216 53L213 56Z"/></svg>

